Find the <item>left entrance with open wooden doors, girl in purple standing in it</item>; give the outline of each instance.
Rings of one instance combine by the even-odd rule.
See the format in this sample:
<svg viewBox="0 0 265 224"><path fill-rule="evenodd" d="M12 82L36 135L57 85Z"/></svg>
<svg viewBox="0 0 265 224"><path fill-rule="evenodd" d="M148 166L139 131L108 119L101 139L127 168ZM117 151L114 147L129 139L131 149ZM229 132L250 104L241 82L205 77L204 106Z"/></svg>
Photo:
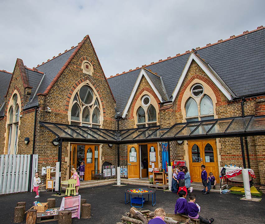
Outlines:
<svg viewBox="0 0 265 224"><path fill-rule="evenodd" d="M92 172L99 173L99 145L71 144L70 157L71 168L77 169L81 162L84 163L84 180L91 180ZM69 171L69 173L71 176L71 171Z"/></svg>

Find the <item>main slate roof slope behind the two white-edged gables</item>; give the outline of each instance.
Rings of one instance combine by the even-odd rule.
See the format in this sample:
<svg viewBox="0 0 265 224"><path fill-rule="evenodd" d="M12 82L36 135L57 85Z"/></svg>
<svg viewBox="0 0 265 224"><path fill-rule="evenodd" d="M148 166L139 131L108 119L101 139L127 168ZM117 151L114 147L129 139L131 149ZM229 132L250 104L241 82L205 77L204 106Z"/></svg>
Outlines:
<svg viewBox="0 0 265 224"><path fill-rule="evenodd" d="M220 43L210 44L195 52L212 67L237 97L264 94L265 29L263 27ZM174 91L189 55L190 53L185 53L145 67L162 77L169 97ZM139 69L108 78L120 112L124 110L133 90Z"/></svg>

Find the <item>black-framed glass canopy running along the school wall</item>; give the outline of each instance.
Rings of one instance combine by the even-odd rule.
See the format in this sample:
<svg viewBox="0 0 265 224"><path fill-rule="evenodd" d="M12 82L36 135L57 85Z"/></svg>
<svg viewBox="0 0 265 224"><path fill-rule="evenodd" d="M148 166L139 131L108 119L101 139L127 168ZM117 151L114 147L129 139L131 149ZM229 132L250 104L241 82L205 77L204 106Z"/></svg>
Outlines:
<svg viewBox="0 0 265 224"><path fill-rule="evenodd" d="M109 130L40 122L57 138L68 142L92 143L144 143L205 138L227 138L265 134L265 116L221 118L174 124L170 128L160 126Z"/></svg>

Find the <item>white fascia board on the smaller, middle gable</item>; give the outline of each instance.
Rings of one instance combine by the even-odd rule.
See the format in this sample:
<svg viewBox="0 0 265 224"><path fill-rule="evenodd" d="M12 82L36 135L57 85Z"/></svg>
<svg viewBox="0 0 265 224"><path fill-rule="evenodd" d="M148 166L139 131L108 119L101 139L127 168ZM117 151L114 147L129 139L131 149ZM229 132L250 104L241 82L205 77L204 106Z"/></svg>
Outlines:
<svg viewBox="0 0 265 224"><path fill-rule="evenodd" d="M151 79L148 77L148 75L146 74L146 72L142 68L141 69L141 72L140 72L140 74L139 74L139 76L138 76L138 78L137 78L137 80L135 82L135 85L133 87L133 91L131 92L131 95L129 97L129 100L128 100L126 106L125 106L125 109L123 110L122 118L125 118L126 117L126 114L127 114L128 110L129 110L129 107L130 107L131 103L133 102L133 97L134 97L134 95L135 95L135 93L136 93L136 91L138 89L138 86L139 86L139 84L140 84L141 79L142 79L143 76L146 78L147 82L150 84L150 86L152 87L153 91L156 93L156 96L158 97L158 99L160 100L160 102L162 102L162 97L160 96L160 94L157 91L157 89L154 86L154 84L151 82Z"/></svg>

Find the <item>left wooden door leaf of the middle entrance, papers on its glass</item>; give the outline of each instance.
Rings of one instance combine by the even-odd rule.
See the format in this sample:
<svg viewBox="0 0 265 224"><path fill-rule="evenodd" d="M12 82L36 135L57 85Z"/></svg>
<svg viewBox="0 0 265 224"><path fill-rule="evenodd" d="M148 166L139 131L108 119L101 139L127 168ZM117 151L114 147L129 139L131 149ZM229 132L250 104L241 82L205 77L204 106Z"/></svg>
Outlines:
<svg viewBox="0 0 265 224"><path fill-rule="evenodd" d="M138 145L128 145L128 178L140 178L140 156Z"/></svg>

